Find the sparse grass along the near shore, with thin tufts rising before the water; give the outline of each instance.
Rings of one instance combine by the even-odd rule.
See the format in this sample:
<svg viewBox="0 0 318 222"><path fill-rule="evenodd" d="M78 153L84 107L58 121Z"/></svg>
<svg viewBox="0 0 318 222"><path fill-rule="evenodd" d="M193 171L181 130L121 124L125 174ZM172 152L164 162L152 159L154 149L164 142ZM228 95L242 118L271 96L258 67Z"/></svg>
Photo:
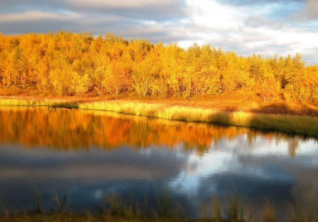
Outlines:
<svg viewBox="0 0 318 222"><path fill-rule="evenodd" d="M61 184L62 185L62 184ZM62 196L66 194L63 187ZM51 208L51 213L45 212L42 208L40 190L33 184L29 185L33 210L29 212L11 213L0 202L0 222L6 221L259 221L259 222L276 222L279 221L278 212L269 199L264 198L262 206L259 206L258 213L254 213L251 202L248 198L236 191L224 196L225 203L221 205L219 197L212 197L209 201L201 201L199 207L201 216L190 219L183 206L174 199L168 190L156 188L156 192L150 194L155 197L155 203L152 206L149 203L149 193L144 192L142 197L130 193L124 197L122 193L105 193L103 192L100 199L100 213L93 214L89 210L84 210L81 214L66 212L70 200L67 198L67 207L65 211L60 211L60 202L55 199L55 209ZM52 193L56 198L58 193ZM36 200L36 201L35 201ZM35 203L36 202L36 203ZM318 207L315 206L310 212L305 212L303 208L295 209L292 205L286 203L289 208L287 215L280 215L284 221L317 221ZM284 216L284 217L282 217Z"/></svg>

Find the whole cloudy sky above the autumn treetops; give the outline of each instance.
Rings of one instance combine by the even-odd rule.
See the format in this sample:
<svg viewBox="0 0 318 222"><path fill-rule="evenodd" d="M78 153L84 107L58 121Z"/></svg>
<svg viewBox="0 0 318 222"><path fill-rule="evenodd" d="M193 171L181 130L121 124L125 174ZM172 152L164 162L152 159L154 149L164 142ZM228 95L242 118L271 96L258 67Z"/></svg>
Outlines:
<svg viewBox="0 0 318 222"><path fill-rule="evenodd" d="M62 29L318 64L318 0L0 0L3 35Z"/></svg>

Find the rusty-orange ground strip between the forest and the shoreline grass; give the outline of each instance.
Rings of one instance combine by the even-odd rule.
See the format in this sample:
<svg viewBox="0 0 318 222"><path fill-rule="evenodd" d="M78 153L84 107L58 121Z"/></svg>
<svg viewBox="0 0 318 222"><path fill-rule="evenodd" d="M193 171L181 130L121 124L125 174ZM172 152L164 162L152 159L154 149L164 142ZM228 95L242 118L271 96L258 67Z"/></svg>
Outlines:
<svg viewBox="0 0 318 222"><path fill-rule="evenodd" d="M21 99L42 99L42 98L63 98L70 101L103 101L103 100L129 100L147 103L165 103L169 106L180 105L198 108L211 108L219 111L244 111L262 114L284 114L284 115L305 115L318 117L318 104L313 102L287 103L283 99L264 102L257 94L236 90L211 96L193 96L190 99L183 98L150 98L136 95L101 95L88 94L85 97L59 96L49 92L39 92L32 89L0 89L0 98L21 98Z"/></svg>

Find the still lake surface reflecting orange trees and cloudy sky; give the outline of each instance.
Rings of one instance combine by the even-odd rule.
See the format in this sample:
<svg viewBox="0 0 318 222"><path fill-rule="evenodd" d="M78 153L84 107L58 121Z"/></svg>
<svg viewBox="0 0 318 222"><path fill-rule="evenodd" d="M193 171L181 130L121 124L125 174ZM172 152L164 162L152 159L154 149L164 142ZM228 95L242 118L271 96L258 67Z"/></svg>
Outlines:
<svg viewBox="0 0 318 222"><path fill-rule="evenodd" d="M63 108L0 107L0 203L32 208L30 184L45 210L62 183L69 211L98 212L103 192L151 194L165 187L193 218L213 197L237 192L280 218L288 204L318 200L318 145L313 138L244 127L167 121Z"/></svg>

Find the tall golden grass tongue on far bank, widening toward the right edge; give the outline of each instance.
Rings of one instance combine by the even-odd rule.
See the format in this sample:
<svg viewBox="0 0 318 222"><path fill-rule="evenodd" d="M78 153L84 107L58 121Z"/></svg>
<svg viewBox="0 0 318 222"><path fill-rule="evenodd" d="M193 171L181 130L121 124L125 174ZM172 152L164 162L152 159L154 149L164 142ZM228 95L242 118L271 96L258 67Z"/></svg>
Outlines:
<svg viewBox="0 0 318 222"><path fill-rule="evenodd" d="M241 127L254 127L318 137L317 117L222 112L213 109L129 101L84 102L79 103L79 108L158 117L168 120L197 121Z"/></svg>

